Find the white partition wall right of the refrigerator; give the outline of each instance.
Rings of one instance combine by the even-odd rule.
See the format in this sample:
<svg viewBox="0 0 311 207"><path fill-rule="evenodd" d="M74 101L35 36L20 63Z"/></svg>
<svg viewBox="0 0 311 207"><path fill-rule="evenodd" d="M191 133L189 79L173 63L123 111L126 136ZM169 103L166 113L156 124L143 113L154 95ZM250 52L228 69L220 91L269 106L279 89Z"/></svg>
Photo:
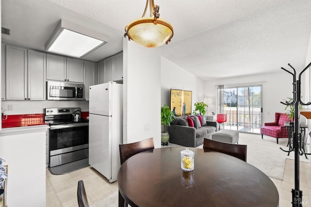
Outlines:
<svg viewBox="0 0 311 207"><path fill-rule="evenodd" d="M150 137L161 146L160 48L123 39L123 143Z"/></svg>

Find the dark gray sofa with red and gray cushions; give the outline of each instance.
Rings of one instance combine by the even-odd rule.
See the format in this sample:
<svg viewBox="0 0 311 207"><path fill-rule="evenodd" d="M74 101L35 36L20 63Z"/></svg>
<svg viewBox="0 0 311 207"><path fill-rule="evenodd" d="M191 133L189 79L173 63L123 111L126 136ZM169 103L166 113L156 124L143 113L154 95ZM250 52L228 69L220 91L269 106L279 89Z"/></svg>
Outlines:
<svg viewBox="0 0 311 207"><path fill-rule="evenodd" d="M193 127L189 126L187 116L193 120ZM201 116L202 122L200 119L198 119L200 114L192 114L187 116L177 116L173 123L171 123L171 126L168 127L170 143L176 143L189 147L197 147L203 144L204 138L210 139L211 135L217 130L217 122L206 121L204 115ZM199 124L198 120L202 124Z"/></svg>

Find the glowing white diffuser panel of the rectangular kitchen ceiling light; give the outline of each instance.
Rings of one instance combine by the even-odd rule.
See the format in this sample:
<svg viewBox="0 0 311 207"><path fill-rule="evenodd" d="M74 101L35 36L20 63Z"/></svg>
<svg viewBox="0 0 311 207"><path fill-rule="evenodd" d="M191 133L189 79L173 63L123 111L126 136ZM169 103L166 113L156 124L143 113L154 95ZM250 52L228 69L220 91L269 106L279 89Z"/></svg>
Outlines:
<svg viewBox="0 0 311 207"><path fill-rule="evenodd" d="M103 43L104 41L64 29L47 51L81 57Z"/></svg>

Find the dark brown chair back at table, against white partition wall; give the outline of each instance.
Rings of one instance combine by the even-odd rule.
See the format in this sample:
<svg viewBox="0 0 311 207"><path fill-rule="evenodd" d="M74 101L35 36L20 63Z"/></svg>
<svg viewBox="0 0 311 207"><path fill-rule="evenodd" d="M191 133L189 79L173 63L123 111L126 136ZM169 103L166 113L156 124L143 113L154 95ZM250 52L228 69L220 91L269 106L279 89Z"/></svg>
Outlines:
<svg viewBox="0 0 311 207"><path fill-rule="evenodd" d="M119 144L121 164L123 164L123 162L125 162L133 155L138 154L139 152L154 148L155 145L153 137L136 143Z"/></svg>

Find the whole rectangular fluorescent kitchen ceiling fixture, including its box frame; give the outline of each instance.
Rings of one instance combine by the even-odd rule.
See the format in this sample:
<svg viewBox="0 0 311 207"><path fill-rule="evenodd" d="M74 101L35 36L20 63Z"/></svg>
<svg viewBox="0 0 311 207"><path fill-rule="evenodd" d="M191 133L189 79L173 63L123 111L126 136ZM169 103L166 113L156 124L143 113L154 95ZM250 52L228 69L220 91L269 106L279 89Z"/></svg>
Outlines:
<svg viewBox="0 0 311 207"><path fill-rule="evenodd" d="M45 45L45 50L81 58L106 42L107 36L103 33L62 19Z"/></svg>

